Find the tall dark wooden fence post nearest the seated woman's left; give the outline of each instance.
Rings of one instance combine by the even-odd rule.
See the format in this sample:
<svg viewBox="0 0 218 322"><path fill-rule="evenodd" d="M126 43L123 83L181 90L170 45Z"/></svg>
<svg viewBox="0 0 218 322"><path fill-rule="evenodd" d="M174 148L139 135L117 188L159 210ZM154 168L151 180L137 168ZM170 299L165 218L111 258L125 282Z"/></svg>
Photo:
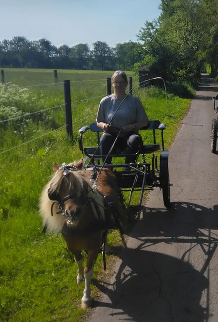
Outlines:
<svg viewBox="0 0 218 322"><path fill-rule="evenodd" d="M64 103L65 103L65 118L66 118L66 133L73 139L72 111L71 111L71 96L70 96L70 81L63 81Z"/></svg>

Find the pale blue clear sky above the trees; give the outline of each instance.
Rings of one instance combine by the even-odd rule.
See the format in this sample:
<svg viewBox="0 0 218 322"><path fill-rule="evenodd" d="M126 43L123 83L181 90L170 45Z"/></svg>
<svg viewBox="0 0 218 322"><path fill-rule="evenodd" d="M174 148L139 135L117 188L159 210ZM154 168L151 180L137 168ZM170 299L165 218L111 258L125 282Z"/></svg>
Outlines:
<svg viewBox="0 0 218 322"><path fill-rule="evenodd" d="M129 40L160 14L161 0L0 0L0 41L24 36L53 45Z"/></svg>

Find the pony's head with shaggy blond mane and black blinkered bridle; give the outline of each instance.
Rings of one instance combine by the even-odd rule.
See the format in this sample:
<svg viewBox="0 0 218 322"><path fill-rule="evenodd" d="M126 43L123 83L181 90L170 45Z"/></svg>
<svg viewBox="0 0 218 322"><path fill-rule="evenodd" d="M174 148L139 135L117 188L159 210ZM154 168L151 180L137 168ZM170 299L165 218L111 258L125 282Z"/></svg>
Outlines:
<svg viewBox="0 0 218 322"><path fill-rule="evenodd" d="M84 222L91 183L80 163L62 163L61 166L54 163L53 170L54 175L42 194L40 209L50 229L59 231L64 223L77 226L80 221ZM51 217L46 215L45 218L48 208ZM55 222L58 227L55 227Z"/></svg>

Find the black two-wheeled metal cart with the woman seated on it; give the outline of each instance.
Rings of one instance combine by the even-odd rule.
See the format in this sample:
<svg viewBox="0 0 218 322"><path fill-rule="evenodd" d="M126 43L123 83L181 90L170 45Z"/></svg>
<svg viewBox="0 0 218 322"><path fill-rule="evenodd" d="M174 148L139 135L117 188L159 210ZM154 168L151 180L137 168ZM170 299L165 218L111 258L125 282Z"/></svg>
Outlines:
<svg viewBox="0 0 218 322"><path fill-rule="evenodd" d="M164 150L163 138L165 127L165 124L159 120L150 120L146 127L140 129L140 131L152 132L150 144L143 145L143 148L135 154L130 154L128 151L113 151L113 154L110 154L112 164L104 165L112 169L115 174L119 188L123 195L126 196L124 202L127 207L136 202L138 206L141 206L144 192L154 190L155 187L162 189L163 204L166 208L170 207L169 152ZM87 131L96 134L98 146L83 147L83 136ZM87 168L94 166L96 169L101 169L102 158L107 157L101 155L99 148L102 131L96 122L91 123L90 126L83 126L79 130L79 148L86 155ZM160 133L157 133L157 131ZM158 160L158 154L160 155L160 161ZM123 163L123 158L127 156L135 156L135 163ZM138 201L136 201L136 198L138 198Z"/></svg>

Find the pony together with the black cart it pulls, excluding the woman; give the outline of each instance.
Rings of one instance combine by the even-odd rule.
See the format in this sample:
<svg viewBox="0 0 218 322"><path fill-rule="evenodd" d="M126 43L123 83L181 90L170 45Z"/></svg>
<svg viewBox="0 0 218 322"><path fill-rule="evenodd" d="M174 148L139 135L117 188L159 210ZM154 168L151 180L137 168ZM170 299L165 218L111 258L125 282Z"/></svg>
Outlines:
<svg viewBox="0 0 218 322"><path fill-rule="evenodd" d="M162 189L164 206L170 206L169 152L164 150L163 140L165 124L151 120L140 130L151 133L151 144L143 145L135 154L111 150L111 164L104 164L102 160L107 156L101 155L99 148L102 129L95 122L90 126L83 126L79 130L79 147L86 155L85 162L81 159L69 164L64 162L61 166L54 163L54 175L41 194L43 231L48 227L50 231L61 232L77 263L77 284L85 279L81 299L83 309L92 305L91 279L100 251L103 253L106 269L108 230L119 229L122 237L122 224L130 223L130 220L134 224L140 218L145 190L159 187ZM88 131L97 136L97 146L84 147L84 135ZM127 156L134 156L136 161L123 162L123 158ZM125 245L125 240L122 240ZM87 253L85 268L82 250Z"/></svg>

